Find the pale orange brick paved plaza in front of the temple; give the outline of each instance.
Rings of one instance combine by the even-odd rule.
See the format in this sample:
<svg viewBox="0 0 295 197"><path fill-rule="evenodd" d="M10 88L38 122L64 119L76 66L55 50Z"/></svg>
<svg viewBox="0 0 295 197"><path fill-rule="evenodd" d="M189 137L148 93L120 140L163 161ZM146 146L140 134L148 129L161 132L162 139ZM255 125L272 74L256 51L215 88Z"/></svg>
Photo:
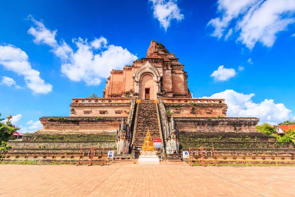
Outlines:
<svg viewBox="0 0 295 197"><path fill-rule="evenodd" d="M4 196L295 196L294 167L0 165Z"/></svg>

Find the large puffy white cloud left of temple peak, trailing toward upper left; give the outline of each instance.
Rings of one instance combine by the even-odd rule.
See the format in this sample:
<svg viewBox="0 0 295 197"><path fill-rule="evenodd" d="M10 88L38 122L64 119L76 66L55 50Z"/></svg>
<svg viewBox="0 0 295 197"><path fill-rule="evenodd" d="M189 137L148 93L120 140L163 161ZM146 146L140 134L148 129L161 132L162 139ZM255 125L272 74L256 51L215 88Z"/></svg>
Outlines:
<svg viewBox="0 0 295 197"><path fill-rule="evenodd" d="M130 53L122 46L107 45L108 41L104 37L94 38L92 42L87 39L78 38L72 39L77 50L73 50L64 40L57 44L55 40L56 30L47 29L42 21L36 21L33 17L30 18L35 27L31 27L28 31L35 37L42 35L42 39L50 40L47 42L40 41L51 46L51 51L61 58L61 72L72 81L84 81L87 85L98 85L101 78L107 78L112 69L122 69L126 64L131 64L137 59L137 56ZM45 38L47 35L49 38ZM52 41L54 38L55 42ZM96 51L100 50L100 51Z"/></svg>

